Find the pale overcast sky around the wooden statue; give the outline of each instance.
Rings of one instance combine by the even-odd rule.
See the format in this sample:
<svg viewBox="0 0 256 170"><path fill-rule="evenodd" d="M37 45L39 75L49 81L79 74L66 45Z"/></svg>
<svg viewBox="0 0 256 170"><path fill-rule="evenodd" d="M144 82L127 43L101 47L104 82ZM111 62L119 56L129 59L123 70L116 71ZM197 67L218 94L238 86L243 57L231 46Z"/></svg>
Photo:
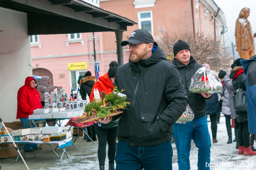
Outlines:
<svg viewBox="0 0 256 170"><path fill-rule="evenodd" d="M228 31L224 34L226 46L229 46L232 41L234 45L236 44L236 19L244 7L250 9L250 16L247 19L251 23L252 31L256 32L256 0L214 0L214 2L220 7L226 18L226 25L228 27ZM256 43L254 42L254 44Z"/></svg>

